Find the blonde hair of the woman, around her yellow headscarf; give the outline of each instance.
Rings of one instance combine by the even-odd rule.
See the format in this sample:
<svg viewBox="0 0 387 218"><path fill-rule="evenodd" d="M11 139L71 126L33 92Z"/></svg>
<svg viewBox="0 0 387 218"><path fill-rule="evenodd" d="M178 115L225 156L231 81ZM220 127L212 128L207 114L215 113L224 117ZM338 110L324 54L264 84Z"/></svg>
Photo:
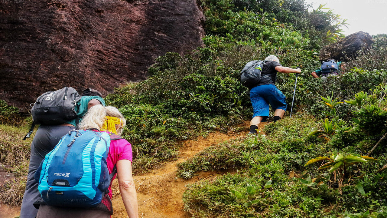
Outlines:
<svg viewBox="0 0 387 218"><path fill-rule="evenodd" d="M89 108L79 123L79 128L82 130L96 128L101 130L102 126L106 123L106 116L115 117L120 119L120 124L115 127L117 135L121 135L123 127L126 125L124 116L118 111L117 108L107 106L104 107L101 104L92 106Z"/></svg>

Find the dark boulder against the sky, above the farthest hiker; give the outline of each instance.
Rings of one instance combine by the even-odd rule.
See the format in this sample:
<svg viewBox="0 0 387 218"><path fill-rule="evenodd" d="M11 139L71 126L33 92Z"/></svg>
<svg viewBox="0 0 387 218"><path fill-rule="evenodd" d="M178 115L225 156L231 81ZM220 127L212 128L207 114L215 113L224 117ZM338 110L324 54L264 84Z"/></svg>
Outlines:
<svg viewBox="0 0 387 218"><path fill-rule="evenodd" d="M333 58L339 61L348 61L345 56L353 57L361 48L372 45L372 36L365 32L353 33L344 39L327 45L320 50L320 61Z"/></svg>

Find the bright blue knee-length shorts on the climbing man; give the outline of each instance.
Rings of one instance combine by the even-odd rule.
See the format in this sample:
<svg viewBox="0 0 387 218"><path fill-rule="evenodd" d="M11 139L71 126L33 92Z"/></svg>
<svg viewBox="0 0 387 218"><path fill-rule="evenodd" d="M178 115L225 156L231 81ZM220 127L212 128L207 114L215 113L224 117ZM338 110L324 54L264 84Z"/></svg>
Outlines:
<svg viewBox="0 0 387 218"><path fill-rule="evenodd" d="M272 84L260 85L250 90L250 100L253 105L253 118L262 116L269 118L269 104L273 110L283 109L286 111L288 104L285 101L285 95Z"/></svg>

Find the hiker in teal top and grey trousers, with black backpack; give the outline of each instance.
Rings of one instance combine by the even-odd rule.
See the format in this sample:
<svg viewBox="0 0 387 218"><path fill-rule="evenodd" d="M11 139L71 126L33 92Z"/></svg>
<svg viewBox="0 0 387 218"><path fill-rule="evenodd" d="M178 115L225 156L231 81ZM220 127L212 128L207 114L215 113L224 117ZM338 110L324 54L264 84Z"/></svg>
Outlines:
<svg viewBox="0 0 387 218"><path fill-rule="evenodd" d="M65 87L55 92L46 92L35 102L35 107L43 106L43 108L36 108L36 112L33 112L33 114L38 114L38 112L44 111L44 105L53 104L50 103L51 101L57 102L56 104L60 104L61 107L57 108L61 109L62 112L51 113L51 111L48 110L46 111L46 115L33 116L34 122L39 121L37 124L40 124L40 126L31 143L31 156L29 160L26 190L24 192L20 212L21 218L34 218L38 213L38 209L33 206L33 203L38 199L38 197L40 197L38 183L34 180L34 173L38 169L39 164L44 159L46 154L54 149L55 145L58 144L63 135L76 128L76 119L66 121L63 120L64 118L58 118L58 116L70 111L76 114L79 121L81 121L88 108L97 104L105 105L105 101L103 100L101 93L92 89L87 90L85 90L86 93L80 96L74 88ZM74 102L73 106L72 102ZM76 106L75 102L77 103ZM57 120L59 123L50 123L51 120ZM33 129L34 125L31 126L29 134L32 133ZM27 134L28 137L29 134Z"/></svg>

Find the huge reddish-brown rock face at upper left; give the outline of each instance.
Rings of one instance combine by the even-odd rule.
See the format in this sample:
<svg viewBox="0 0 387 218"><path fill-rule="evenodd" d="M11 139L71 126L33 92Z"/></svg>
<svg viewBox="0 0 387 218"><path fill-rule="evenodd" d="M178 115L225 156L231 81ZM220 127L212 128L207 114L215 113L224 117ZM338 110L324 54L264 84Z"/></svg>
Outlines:
<svg viewBox="0 0 387 218"><path fill-rule="evenodd" d="M202 46L195 0L3 0L0 99L29 109L43 92L146 78L154 58Z"/></svg>

